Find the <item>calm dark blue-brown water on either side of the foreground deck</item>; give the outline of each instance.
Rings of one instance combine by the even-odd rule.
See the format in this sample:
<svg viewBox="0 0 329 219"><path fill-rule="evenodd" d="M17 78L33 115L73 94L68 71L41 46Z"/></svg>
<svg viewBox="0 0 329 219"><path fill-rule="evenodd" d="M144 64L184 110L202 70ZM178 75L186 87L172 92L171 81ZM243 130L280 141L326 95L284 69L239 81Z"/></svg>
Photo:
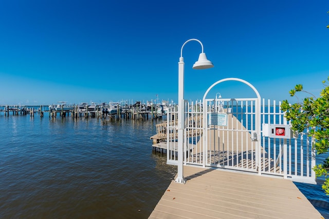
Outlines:
<svg viewBox="0 0 329 219"><path fill-rule="evenodd" d="M159 122L0 114L0 218L147 218L177 169L152 153Z"/></svg>

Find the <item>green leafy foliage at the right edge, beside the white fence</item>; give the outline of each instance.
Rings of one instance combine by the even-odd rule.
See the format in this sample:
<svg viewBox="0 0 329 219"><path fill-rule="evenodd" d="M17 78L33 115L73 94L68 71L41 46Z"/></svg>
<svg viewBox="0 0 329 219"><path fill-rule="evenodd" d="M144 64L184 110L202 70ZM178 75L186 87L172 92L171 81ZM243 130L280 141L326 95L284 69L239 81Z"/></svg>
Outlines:
<svg viewBox="0 0 329 219"><path fill-rule="evenodd" d="M327 78L329 81L329 77ZM309 136L315 140L314 147L317 154L329 151L329 87L326 81L322 82L324 89L320 92L320 97L306 97L302 103L290 105L287 100L283 101L281 109L286 111L285 117L290 121L291 129L303 132L311 128ZM306 92L302 85L296 85L289 91L290 96L296 96L296 92ZM306 92L308 93L308 92ZM322 189L329 195L329 157L323 164L313 168L317 176L324 176L325 182Z"/></svg>

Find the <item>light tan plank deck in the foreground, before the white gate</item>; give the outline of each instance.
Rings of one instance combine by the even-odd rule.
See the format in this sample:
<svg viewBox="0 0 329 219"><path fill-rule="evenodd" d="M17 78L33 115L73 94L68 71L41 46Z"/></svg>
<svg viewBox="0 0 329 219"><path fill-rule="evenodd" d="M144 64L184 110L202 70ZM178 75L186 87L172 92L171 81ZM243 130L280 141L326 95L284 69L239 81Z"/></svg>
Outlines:
<svg viewBox="0 0 329 219"><path fill-rule="evenodd" d="M324 218L293 182L184 166L149 218Z"/></svg>

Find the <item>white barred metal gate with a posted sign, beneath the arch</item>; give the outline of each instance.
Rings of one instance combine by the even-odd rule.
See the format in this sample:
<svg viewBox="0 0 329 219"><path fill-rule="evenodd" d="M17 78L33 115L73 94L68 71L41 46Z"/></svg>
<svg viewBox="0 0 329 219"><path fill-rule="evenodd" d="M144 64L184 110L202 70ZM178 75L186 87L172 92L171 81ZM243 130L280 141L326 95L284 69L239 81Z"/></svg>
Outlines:
<svg viewBox="0 0 329 219"><path fill-rule="evenodd" d="M257 98L205 99L206 166L258 171Z"/></svg>

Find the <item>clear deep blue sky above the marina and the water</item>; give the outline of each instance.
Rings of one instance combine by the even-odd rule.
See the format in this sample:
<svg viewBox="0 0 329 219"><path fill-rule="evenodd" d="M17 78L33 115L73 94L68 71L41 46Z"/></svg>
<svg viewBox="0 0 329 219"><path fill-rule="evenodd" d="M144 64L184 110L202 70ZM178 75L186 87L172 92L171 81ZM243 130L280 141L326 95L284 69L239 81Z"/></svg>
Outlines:
<svg viewBox="0 0 329 219"><path fill-rule="evenodd" d="M325 0L1 1L0 104L176 102L190 38L214 68L193 70L201 47L186 44L186 99L227 77L265 99L295 101L296 84L318 95L329 76L327 11ZM212 92L255 96L239 82Z"/></svg>

